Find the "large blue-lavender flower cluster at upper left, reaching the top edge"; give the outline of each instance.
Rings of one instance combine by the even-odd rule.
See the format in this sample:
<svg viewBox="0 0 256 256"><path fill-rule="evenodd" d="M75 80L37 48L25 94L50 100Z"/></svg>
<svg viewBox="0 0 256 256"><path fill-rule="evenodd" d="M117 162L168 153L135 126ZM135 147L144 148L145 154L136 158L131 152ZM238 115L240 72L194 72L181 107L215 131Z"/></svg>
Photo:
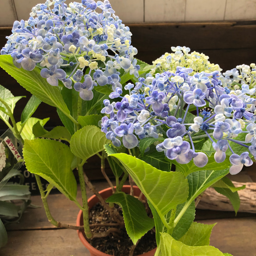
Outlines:
<svg viewBox="0 0 256 256"><path fill-rule="evenodd" d="M15 21L1 54L11 54L14 65L28 71L39 64L50 85L60 80L72 89L73 84L83 100L93 98L97 85L122 88L120 69L138 77L132 34L109 1L82 0L69 7L64 2L47 0L32 8L28 21Z"/></svg>

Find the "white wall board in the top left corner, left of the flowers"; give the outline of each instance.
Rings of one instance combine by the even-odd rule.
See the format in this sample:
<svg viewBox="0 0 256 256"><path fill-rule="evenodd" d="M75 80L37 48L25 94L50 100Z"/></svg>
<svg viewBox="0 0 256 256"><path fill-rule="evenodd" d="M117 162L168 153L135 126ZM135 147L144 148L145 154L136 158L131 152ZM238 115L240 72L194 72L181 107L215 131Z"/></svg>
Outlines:
<svg viewBox="0 0 256 256"><path fill-rule="evenodd" d="M15 21L15 12L11 0L0 0L0 26L12 26Z"/></svg>

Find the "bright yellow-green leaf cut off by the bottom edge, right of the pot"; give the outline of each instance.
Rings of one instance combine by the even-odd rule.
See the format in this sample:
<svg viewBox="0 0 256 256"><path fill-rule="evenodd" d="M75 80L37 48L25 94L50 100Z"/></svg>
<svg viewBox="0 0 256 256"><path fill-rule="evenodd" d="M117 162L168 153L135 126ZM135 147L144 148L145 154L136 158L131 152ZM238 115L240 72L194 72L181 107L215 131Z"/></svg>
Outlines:
<svg viewBox="0 0 256 256"><path fill-rule="evenodd" d="M167 233L161 234L160 250L162 256L224 256L213 246L189 246L176 241Z"/></svg>

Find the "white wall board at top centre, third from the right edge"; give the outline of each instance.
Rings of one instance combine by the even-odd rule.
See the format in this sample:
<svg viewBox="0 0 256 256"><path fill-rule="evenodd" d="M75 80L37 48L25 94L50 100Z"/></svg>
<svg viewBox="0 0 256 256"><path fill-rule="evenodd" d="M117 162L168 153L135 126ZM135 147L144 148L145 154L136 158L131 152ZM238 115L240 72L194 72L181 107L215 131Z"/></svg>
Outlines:
<svg viewBox="0 0 256 256"><path fill-rule="evenodd" d="M185 0L145 0L145 22L183 22Z"/></svg>

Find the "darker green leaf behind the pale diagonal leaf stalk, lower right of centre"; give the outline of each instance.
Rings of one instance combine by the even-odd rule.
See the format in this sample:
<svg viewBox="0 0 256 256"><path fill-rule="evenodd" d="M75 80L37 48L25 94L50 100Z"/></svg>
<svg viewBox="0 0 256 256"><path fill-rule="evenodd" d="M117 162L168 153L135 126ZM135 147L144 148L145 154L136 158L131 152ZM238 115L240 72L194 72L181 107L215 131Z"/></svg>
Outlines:
<svg viewBox="0 0 256 256"><path fill-rule="evenodd" d="M177 206L176 217L183 209L185 203ZM180 239L189 230L193 220L195 219L195 201L191 202L188 206L186 212L181 217L180 221L177 223L176 227L173 229L172 237L176 240Z"/></svg>

